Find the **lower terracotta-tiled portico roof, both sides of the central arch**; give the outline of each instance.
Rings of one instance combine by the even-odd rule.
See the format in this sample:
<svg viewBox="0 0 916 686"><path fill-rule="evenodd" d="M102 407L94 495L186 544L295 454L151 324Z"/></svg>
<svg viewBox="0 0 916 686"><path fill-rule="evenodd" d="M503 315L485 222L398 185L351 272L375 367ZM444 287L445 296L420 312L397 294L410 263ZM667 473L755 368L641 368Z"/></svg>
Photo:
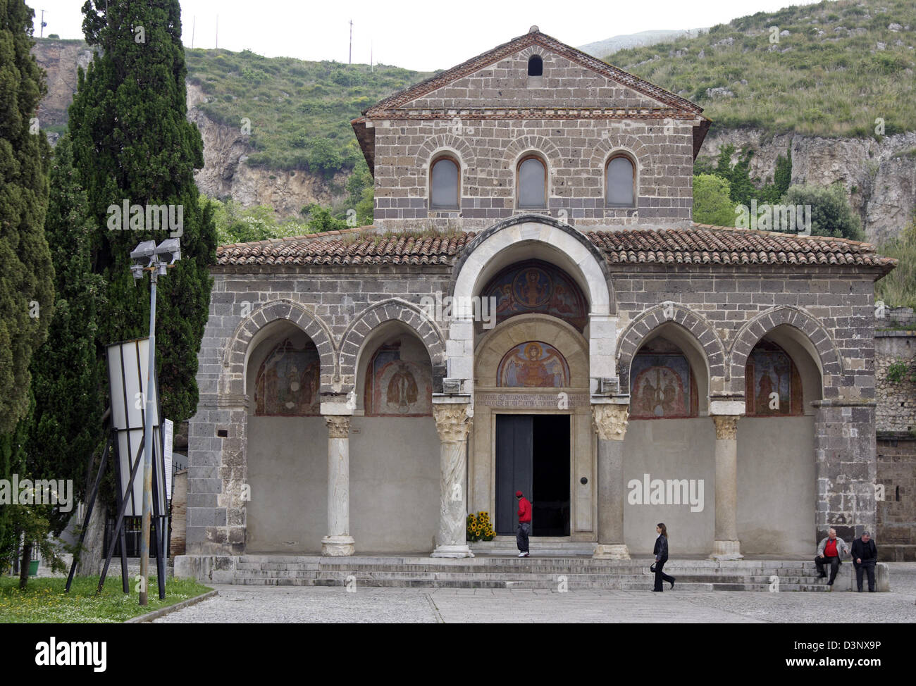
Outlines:
<svg viewBox="0 0 916 686"><path fill-rule="evenodd" d="M217 264L452 265L477 234L375 234L373 227L329 234L221 245ZM874 245L845 238L800 236L708 224L690 229L620 229L584 234L610 265L792 265L878 267L897 261Z"/></svg>

